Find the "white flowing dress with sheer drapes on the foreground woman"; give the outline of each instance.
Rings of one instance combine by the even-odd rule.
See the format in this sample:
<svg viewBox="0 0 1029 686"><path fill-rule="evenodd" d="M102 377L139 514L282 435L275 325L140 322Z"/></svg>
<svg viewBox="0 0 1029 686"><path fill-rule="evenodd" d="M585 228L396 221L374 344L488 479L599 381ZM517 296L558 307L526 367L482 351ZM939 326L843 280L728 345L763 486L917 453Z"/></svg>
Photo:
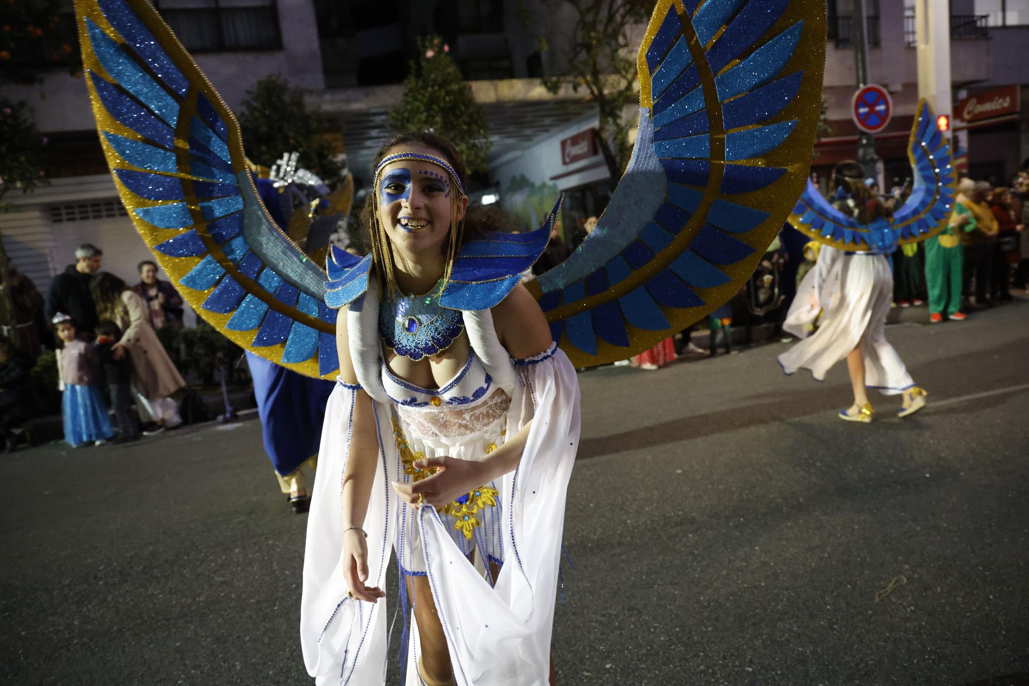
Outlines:
<svg viewBox="0 0 1029 686"><path fill-rule="evenodd" d="M472 348L467 364L440 388L419 388L382 364L370 316L378 313L376 301L369 290L363 314L353 307L348 314L360 385L339 382L325 412L304 560L300 639L308 673L318 684L381 684L391 636L397 640L392 627L387 631L387 606L395 599L372 605L350 598L343 576L343 474L356 393L363 388L372 399L380 459L364 520L366 583L386 587L393 551L405 574L427 577L459 686L545 686L565 493L579 441L575 370L555 346L512 361L488 310L463 312ZM494 505L476 499L476 489L463 511L415 511L390 486L412 478L404 462L420 458L417 453L482 459L530 419L518 468L484 484L497 491ZM472 548L478 569L467 557ZM483 574L484 556L502 563L493 585ZM407 686L422 683L413 615Z"/></svg>

